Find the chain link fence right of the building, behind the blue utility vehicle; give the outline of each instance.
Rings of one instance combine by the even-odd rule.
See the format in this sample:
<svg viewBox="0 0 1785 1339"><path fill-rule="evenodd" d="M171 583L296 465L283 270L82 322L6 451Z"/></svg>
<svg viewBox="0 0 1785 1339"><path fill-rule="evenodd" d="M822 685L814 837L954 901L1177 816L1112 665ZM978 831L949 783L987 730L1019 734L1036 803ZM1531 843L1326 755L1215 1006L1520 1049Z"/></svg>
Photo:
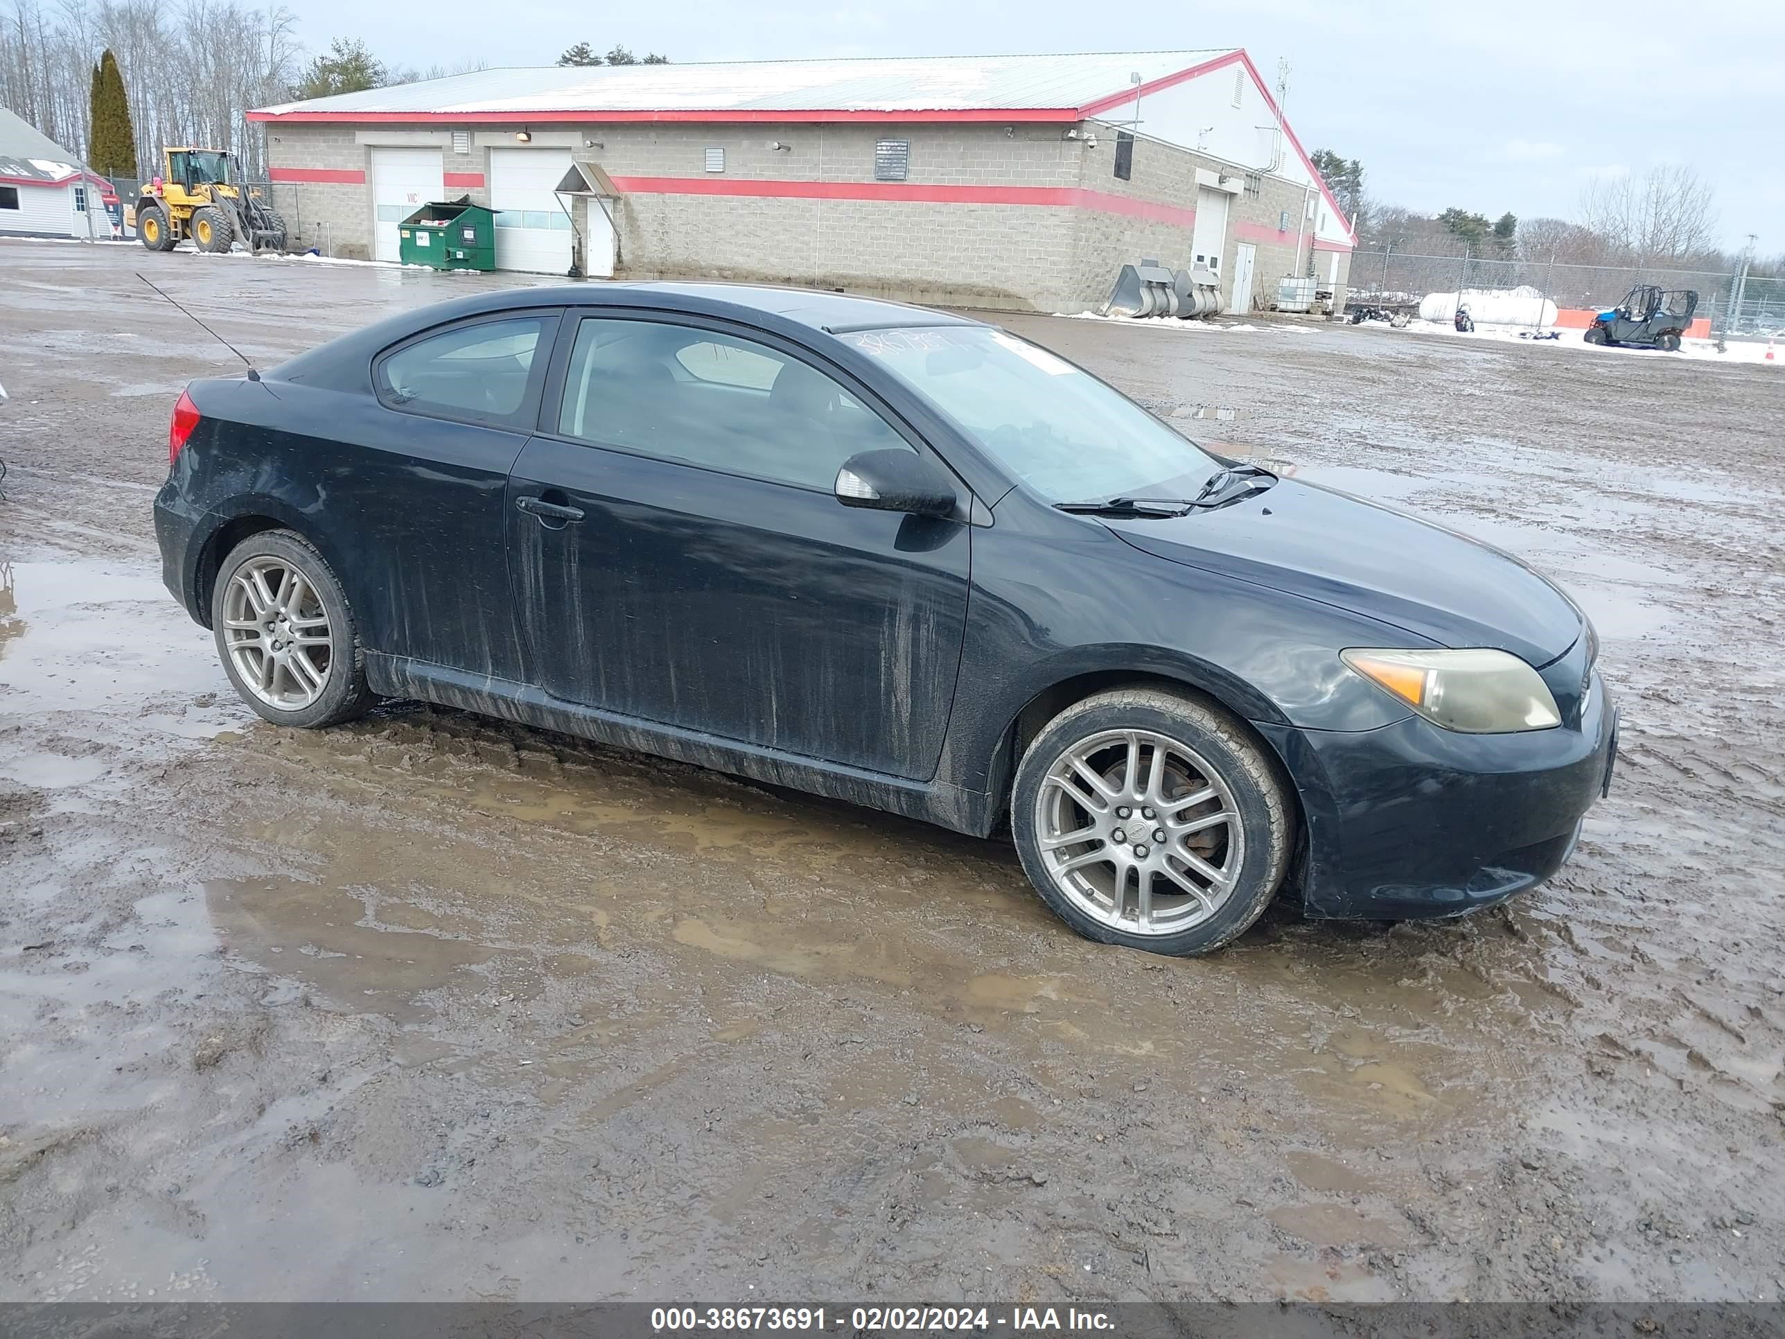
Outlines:
<svg viewBox="0 0 1785 1339"><path fill-rule="evenodd" d="M1637 264L1569 264L1548 259L1414 255L1392 248L1353 252L1353 305L1417 307L1428 293L1487 293L1528 287L1558 309L1605 311L1637 284L1698 293L1698 314L1730 339L1785 339L1785 279L1669 270Z"/></svg>

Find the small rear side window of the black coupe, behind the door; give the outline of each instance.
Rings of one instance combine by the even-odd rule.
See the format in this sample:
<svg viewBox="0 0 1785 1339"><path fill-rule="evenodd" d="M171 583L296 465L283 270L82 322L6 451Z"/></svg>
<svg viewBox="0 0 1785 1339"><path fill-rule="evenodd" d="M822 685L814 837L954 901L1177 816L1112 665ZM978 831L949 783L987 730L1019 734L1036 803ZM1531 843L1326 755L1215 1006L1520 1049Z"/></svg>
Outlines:
<svg viewBox="0 0 1785 1339"><path fill-rule="evenodd" d="M546 318L477 321L421 339L378 362L378 398L393 409L491 423L512 421Z"/></svg>

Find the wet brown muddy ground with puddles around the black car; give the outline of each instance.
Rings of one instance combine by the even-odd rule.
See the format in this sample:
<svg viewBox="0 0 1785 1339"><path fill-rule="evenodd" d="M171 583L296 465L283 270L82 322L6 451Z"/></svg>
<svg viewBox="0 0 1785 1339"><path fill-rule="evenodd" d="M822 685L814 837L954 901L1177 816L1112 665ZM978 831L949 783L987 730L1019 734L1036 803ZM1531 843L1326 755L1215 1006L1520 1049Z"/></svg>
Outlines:
<svg viewBox="0 0 1785 1339"><path fill-rule="evenodd" d="M471 716L280 732L159 584L191 377L491 279L0 243L0 1296L1785 1289L1785 373L1012 318L1598 620L1462 923L1100 948L1010 850Z"/></svg>

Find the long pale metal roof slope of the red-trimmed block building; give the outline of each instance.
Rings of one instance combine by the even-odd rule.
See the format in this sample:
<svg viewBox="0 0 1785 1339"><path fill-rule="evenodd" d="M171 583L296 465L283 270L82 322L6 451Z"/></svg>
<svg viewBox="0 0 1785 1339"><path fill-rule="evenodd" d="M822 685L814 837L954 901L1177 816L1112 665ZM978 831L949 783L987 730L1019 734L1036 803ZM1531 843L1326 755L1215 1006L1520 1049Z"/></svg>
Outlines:
<svg viewBox="0 0 1785 1339"><path fill-rule="evenodd" d="M716 64L544 66L480 70L419 84L341 93L262 107L270 120L350 116L619 112L769 120L776 112L1021 112L1082 109L1126 95L1135 82L1180 75L1233 55L1101 52L1085 55L932 55L853 61L732 61ZM1135 80L1139 75L1139 80Z"/></svg>

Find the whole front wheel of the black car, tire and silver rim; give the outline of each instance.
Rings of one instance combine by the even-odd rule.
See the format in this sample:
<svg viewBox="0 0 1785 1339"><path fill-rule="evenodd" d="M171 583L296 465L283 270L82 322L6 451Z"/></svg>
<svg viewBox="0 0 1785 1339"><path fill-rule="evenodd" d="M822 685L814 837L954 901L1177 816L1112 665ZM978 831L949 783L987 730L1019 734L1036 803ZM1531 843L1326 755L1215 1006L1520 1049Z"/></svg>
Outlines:
<svg viewBox="0 0 1785 1339"><path fill-rule="evenodd" d="M1155 752L1164 753L1158 782ZM1101 778L1101 793L1075 759ZM1185 803L1203 791L1208 798ZM1173 811L1173 800L1182 807ZM1137 819L1142 843L1133 841ZM1151 687L1085 698L1035 736L1017 764L1010 830L1023 871L1073 930L1176 957L1212 953L1244 934L1282 886L1294 848L1287 789L1264 748L1228 714ZM1092 830L1080 843L1059 841Z"/></svg>

